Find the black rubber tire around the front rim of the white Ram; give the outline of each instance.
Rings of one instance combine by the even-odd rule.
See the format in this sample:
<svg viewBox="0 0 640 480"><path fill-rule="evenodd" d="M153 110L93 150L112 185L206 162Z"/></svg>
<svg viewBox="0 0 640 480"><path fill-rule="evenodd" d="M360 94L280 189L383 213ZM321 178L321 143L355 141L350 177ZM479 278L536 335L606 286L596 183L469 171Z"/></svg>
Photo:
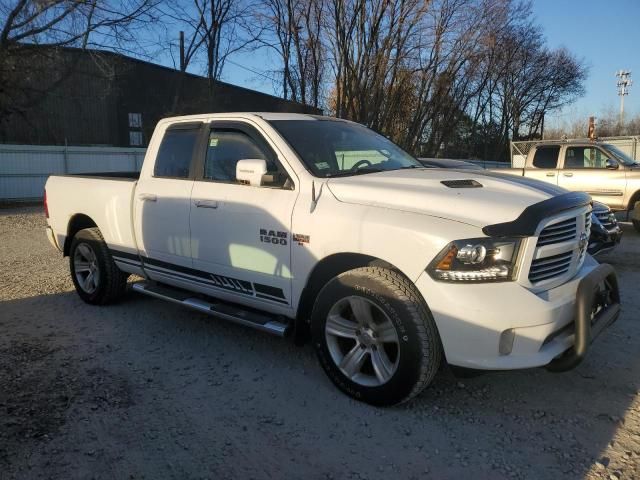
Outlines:
<svg viewBox="0 0 640 480"><path fill-rule="evenodd" d="M367 364L365 360L360 367L363 373L356 374L360 377L359 381L354 381L352 378L356 376L350 378L336 363L335 345L337 343L330 338L331 332L327 333L325 330L329 313L332 312L332 317L335 316L335 308L342 305L340 302L345 300L350 302L354 298L358 302L363 299L372 305L370 311L374 314L370 318L382 315L383 322L388 325L390 321L396 330L397 343L392 346L396 349L397 356L394 356L394 352L387 356L388 359L394 359L395 371L384 382L380 380L378 371L373 373L381 384L371 385L371 382L365 381L368 378L367 368L369 371L375 370L373 366L375 352L369 353L370 363ZM345 315L348 316L348 308L346 312ZM353 320L356 317L355 310L352 313ZM342 320L342 314L338 315L338 318ZM374 319L372 323L376 322L377 320ZM390 406L415 397L431 383L442 360L442 345L438 330L424 299L408 279L385 268L357 268L327 283L316 299L311 330L316 354L331 381L347 395L372 405ZM376 337L375 328L372 331L373 337ZM355 342L356 347L353 350L358 346L365 350L376 348L363 346L364 343L368 343L369 337L366 342L361 342L360 327L357 332L359 332L357 339L345 339L345 342ZM339 340L342 341L342 339ZM345 350L349 348L350 345L344 347ZM349 354L344 355L343 361Z"/></svg>

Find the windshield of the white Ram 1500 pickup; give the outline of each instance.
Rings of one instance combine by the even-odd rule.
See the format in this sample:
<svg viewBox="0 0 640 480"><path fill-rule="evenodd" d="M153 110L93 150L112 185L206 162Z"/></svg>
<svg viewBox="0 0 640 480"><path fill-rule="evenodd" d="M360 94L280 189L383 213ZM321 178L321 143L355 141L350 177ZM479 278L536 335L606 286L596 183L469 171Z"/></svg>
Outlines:
<svg viewBox="0 0 640 480"><path fill-rule="evenodd" d="M422 167L393 142L356 123L340 120L272 120L270 123L317 177Z"/></svg>

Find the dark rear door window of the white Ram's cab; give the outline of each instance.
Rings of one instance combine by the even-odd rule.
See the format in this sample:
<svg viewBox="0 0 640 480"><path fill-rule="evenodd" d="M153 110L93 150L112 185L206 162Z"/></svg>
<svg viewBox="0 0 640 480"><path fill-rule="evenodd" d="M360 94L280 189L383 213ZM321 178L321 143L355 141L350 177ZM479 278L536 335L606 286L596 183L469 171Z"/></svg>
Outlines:
<svg viewBox="0 0 640 480"><path fill-rule="evenodd" d="M154 177L189 178L199 128L167 130L158 149Z"/></svg>

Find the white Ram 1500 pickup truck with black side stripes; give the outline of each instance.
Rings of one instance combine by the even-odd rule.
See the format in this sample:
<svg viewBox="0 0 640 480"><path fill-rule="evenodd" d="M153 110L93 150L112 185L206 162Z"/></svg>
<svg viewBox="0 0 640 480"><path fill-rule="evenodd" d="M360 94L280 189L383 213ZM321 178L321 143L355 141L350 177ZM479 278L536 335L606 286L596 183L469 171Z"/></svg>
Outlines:
<svg viewBox="0 0 640 480"><path fill-rule="evenodd" d="M158 123L137 174L53 176L48 237L91 304L136 292L296 339L330 379L391 405L441 361L567 370L619 313L587 253L591 198L426 169L327 117Z"/></svg>

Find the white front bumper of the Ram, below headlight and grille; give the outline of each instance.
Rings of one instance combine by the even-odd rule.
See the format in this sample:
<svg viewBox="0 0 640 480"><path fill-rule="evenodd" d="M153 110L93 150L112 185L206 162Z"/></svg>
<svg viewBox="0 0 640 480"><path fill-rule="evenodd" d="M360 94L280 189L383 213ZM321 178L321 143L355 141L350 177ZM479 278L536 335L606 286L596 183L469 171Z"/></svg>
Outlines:
<svg viewBox="0 0 640 480"><path fill-rule="evenodd" d="M431 309L449 364L512 370L549 365L558 357L570 356L574 346L579 360L584 357L586 349L581 346L581 336L595 338L619 312L617 281L609 269L610 266L599 265L587 257L574 278L539 293L516 282L459 285L436 282L426 273L416 285ZM594 327L585 333L585 316L581 312L596 297L587 286L603 283L605 271L615 301L604 309L606 317L602 310L598 312Z"/></svg>

